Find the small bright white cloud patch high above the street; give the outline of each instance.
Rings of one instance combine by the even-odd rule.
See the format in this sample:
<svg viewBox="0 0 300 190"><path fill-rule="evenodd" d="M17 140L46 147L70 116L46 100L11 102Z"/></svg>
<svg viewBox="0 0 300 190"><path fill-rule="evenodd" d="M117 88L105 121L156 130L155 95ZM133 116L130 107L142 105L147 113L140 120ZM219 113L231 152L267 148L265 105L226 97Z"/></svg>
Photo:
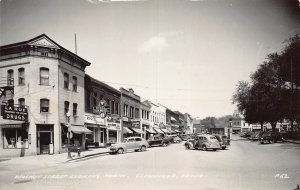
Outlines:
<svg viewBox="0 0 300 190"><path fill-rule="evenodd" d="M144 42L139 48L140 53L148 53L151 51L161 52L169 46L167 38L163 36L153 36L146 42Z"/></svg>

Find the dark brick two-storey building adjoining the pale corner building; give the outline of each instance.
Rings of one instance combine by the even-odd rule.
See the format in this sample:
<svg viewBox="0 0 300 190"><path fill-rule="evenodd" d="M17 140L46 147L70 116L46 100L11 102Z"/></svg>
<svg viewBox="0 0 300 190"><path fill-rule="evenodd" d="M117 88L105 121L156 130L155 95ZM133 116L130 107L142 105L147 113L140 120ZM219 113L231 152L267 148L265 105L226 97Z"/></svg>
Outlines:
<svg viewBox="0 0 300 190"><path fill-rule="evenodd" d="M92 134L87 135L91 146L106 146L121 141L121 92L85 75L85 125ZM103 105L101 105L103 104ZM104 106L106 115L101 115Z"/></svg>

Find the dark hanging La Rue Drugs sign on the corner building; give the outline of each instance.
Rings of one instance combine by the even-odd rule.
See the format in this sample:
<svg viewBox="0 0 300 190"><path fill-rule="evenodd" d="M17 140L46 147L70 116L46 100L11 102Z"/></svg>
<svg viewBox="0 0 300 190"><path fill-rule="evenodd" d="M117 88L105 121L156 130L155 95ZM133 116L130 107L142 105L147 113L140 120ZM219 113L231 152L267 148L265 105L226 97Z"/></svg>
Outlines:
<svg viewBox="0 0 300 190"><path fill-rule="evenodd" d="M8 120L28 121L28 110L25 107L1 105L1 116Z"/></svg>

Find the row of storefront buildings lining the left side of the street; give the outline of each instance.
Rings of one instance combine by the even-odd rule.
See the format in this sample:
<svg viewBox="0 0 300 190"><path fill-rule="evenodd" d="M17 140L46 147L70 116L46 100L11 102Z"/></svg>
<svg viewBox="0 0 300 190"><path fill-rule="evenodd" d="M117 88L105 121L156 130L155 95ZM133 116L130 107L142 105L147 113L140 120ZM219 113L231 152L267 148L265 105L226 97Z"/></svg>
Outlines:
<svg viewBox="0 0 300 190"><path fill-rule="evenodd" d="M96 80L85 73L89 65L45 34L0 47L2 157L183 132L183 117L142 101L133 89L117 90Z"/></svg>

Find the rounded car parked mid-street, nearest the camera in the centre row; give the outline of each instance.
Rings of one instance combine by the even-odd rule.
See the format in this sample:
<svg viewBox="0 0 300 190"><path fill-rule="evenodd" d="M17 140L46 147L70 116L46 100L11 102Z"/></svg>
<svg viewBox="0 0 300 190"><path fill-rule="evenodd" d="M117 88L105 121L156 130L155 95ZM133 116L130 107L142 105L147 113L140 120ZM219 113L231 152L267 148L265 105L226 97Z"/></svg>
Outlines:
<svg viewBox="0 0 300 190"><path fill-rule="evenodd" d="M187 140L184 146L186 149L212 149L214 151L221 149L219 141L213 135L197 135L195 138Z"/></svg>

